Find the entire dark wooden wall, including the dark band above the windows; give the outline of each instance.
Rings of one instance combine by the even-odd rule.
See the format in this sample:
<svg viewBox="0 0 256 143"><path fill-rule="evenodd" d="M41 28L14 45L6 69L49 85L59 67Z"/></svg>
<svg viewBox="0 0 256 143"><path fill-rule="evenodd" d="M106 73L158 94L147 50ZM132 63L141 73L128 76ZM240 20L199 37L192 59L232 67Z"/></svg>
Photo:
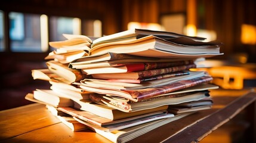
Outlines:
<svg viewBox="0 0 256 143"><path fill-rule="evenodd" d="M187 13L190 1L196 2L196 26L215 30L224 43L219 58L256 54L255 45L240 42L241 25L256 25L255 0L8 0L1 2L0 10L100 19L103 34L110 35L127 30L129 21L159 23L162 14Z"/></svg>

